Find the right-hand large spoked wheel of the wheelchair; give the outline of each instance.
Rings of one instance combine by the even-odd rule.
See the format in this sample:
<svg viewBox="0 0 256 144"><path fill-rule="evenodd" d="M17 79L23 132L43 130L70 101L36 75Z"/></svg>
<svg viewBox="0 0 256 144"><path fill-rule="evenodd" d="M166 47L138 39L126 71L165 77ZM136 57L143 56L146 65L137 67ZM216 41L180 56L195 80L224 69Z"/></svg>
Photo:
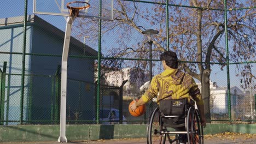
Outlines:
<svg viewBox="0 0 256 144"><path fill-rule="evenodd" d="M189 144L203 144L203 129L199 111L190 107L187 116L187 132Z"/></svg>

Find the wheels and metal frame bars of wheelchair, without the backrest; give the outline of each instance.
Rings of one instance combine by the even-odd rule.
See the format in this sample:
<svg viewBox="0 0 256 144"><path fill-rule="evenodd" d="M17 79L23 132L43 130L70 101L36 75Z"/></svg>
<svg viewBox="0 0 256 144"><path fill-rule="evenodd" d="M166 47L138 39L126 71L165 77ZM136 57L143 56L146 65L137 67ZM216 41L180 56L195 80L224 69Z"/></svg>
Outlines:
<svg viewBox="0 0 256 144"><path fill-rule="evenodd" d="M201 127L201 120L199 110L194 106L190 106L185 110L185 131L170 131L162 125L162 118L178 118L179 116L161 116L159 107L151 113L147 127L147 143L163 143L166 142L166 137L170 143L179 143L181 137L178 134L187 134L188 144L203 144L203 128ZM170 138L170 134L175 134L175 139Z"/></svg>

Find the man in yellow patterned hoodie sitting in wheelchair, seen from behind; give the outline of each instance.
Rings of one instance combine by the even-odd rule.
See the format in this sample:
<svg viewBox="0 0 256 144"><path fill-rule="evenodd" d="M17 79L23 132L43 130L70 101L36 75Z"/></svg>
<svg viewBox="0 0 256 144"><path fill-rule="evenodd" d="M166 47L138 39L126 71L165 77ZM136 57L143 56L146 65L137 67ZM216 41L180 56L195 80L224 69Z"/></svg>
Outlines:
<svg viewBox="0 0 256 144"><path fill-rule="evenodd" d="M183 131L179 133L179 142L185 143L188 141L187 137L190 137L188 135L190 132L187 134L184 133L184 130L186 130L186 125L184 125L185 117L188 115L190 106L194 107L194 101L199 110L199 121L201 121L201 125L205 126L206 124L200 89L197 87L191 75L185 74L178 69L178 58L175 52L166 51L162 53L160 55L160 61L162 62L164 71L153 77L147 91L137 102L135 101L133 103L130 109L135 111L139 105L146 104L156 97L156 102L159 105L158 115L160 118L158 119L162 127L160 128L160 132L155 130L154 133L162 134L162 129L171 127L177 131ZM193 112L196 113L195 110ZM155 112L155 114L157 113ZM194 128L187 129L193 130ZM168 132L168 134L172 133Z"/></svg>

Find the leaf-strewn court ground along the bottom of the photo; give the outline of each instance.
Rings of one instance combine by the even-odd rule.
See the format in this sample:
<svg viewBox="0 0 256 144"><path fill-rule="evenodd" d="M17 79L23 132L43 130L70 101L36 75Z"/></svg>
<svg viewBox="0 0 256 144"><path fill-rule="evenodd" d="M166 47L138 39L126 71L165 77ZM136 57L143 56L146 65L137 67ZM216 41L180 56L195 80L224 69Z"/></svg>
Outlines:
<svg viewBox="0 0 256 144"><path fill-rule="evenodd" d="M58 144L60 142L56 141L40 141L40 142L0 142L0 144ZM96 143L105 143L105 144L143 144L147 143L146 138L137 138L137 139L113 139L113 140L91 140L91 141L72 141L67 142L67 144L96 144ZM168 143L168 142L166 142ZM256 134L235 134L235 133L224 133L216 135L205 135L204 139L205 144L256 144Z"/></svg>

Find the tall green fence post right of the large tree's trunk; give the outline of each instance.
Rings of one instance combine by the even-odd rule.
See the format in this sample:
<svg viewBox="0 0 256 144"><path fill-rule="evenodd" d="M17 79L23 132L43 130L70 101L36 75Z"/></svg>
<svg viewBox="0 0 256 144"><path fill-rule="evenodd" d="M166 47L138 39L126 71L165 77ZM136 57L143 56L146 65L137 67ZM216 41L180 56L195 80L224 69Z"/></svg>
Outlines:
<svg viewBox="0 0 256 144"><path fill-rule="evenodd" d="M230 98L230 77L229 77L229 42L228 42L228 18L226 14L226 0L224 0L224 17L225 17L225 41L226 41L226 78L228 82L228 111L229 122L231 123L231 98Z"/></svg>

